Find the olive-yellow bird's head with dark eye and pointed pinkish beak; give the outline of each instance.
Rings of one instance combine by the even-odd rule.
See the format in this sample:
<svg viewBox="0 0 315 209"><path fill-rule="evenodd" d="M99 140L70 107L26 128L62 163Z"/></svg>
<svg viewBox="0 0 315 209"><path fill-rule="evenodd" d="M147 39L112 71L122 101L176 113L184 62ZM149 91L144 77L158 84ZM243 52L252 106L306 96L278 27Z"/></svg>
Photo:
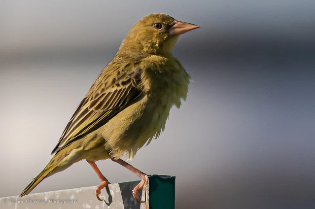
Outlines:
<svg viewBox="0 0 315 209"><path fill-rule="evenodd" d="M197 28L200 27L166 14L150 14L131 28L118 53L172 54L178 36Z"/></svg>

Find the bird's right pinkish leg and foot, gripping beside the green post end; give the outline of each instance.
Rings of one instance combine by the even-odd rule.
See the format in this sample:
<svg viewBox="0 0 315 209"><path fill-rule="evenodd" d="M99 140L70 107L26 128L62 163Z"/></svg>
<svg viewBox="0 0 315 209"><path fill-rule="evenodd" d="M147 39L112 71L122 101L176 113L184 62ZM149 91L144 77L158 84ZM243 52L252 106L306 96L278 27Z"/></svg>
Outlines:
<svg viewBox="0 0 315 209"><path fill-rule="evenodd" d="M136 169L135 167L133 167L132 165L130 165L129 163L123 161L122 159L118 159L115 160L113 158L110 158L112 161L122 165L123 167L125 167L126 169L128 169L129 171L133 172L134 174L138 175L142 180L140 181L140 183L132 190L132 194L134 196L134 198L140 202L140 203L145 203L145 201L140 201L138 199L138 195L139 195L139 190L143 188L145 182L145 176L146 174L144 174L143 172L139 171L138 169Z"/></svg>

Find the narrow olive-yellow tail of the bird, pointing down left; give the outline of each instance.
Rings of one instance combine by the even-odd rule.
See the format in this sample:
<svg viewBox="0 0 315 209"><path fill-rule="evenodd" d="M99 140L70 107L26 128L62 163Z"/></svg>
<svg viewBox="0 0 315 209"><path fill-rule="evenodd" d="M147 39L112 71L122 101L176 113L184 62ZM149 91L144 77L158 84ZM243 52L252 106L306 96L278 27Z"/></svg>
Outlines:
<svg viewBox="0 0 315 209"><path fill-rule="evenodd" d="M28 195L35 188L35 186L37 186L37 184L39 184L44 178L52 174L56 174L57 172L63 171L74 163L73 161L72 162L70 161L69 163L62 162L63 159L65 159L65 157L68 155L68 153L65 153L63 151L64 150L60 150L53 156L53 158L49 161L49 163L42 170L42 172L40 172L40 174L33 178L33 181L23 190L23 192L20 194L20 197Z"/></svg>

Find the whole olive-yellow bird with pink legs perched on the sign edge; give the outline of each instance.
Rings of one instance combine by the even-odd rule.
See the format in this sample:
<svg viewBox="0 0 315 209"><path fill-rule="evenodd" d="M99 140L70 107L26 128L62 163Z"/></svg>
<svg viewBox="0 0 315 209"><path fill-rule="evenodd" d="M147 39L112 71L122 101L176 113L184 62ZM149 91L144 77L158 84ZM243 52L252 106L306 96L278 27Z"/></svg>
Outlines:
<svg viewBox="0 0 315 209"><path fill-rule="evenodd" d="M179 108L186 100L191 77L172 50L179 35L197 28L200 26L161 13L140 19L77 106L50 162L20 197L43 179L86 160L101 180L95 193L103 201L99 195L109 181L95 162L111 159L141 178L133 196L143 202L138 195L147 174L126 161L160 136L170 109ZM124 156L126 161L121 159Z"/></svg>

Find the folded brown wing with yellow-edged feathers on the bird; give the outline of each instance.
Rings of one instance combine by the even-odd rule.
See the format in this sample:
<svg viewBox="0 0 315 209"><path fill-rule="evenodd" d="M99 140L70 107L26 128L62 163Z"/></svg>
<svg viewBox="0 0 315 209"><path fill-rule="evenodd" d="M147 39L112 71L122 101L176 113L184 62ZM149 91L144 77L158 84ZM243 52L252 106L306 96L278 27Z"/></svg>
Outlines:
<svg viewBox="0 0 315 209"><path fill-rule="evenodd" d="M123 71L125 74L118 70L101 72L71 117L52 154L100 128L141 95L137 88L140 73Z"/></svg>

